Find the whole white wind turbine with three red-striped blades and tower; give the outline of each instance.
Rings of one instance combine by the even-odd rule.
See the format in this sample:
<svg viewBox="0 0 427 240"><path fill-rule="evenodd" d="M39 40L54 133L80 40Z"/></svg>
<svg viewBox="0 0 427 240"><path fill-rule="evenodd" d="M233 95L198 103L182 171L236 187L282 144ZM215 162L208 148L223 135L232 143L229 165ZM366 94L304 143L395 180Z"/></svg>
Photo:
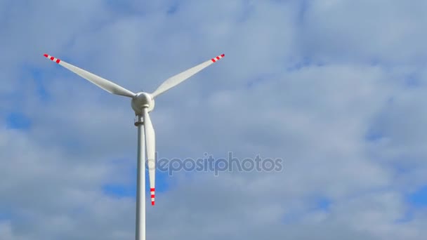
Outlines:
<svg viewBox="0 0 427 240"><path fill-rule="evenodd" d="M55 58L51 55L44 54L44 56L53 62L69 69L71 72L78 74L84 79L90 81L92 84L103 88L109 93L116 95L122 95L131 98L131 106L135 112L135 126L138 127L138 167L137 167L137 189L136 189L136 240L145 240L145 148L147 149L147 165L148 175L150 178L150 195L151 204L155 205L155 129L152 126L150 119L150 112L155 107L155 98L160 94L168 91L169 89L177 86L190 76L197 74L202 69L209 67L214 62L224 58L224 54L218 55L216 58L211 58L206 62L192 67L190 69L171 76L169 79L163 82L154 92L145 93L138 92L133 93L126 88L123 88L112 81L103 79L100 76L87 72L84 69L71 65L63 60ZM144 146L145 145L145 146Z"/></svg>

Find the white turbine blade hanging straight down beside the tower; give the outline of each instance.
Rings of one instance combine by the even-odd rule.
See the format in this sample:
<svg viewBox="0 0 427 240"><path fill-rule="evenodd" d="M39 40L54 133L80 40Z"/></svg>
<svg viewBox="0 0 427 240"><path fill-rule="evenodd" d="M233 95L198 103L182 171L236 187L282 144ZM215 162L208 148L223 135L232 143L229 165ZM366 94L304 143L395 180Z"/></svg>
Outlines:
<svg viewBox="0 0 427 240"><path fill-rule="evenodd" d="M147 166L148 176L150 178L150 196L151 205L155 205L155 180L156 180L156 135L153 128L147 107L144 107L144 130L145 145L147 146Z"/></svg>

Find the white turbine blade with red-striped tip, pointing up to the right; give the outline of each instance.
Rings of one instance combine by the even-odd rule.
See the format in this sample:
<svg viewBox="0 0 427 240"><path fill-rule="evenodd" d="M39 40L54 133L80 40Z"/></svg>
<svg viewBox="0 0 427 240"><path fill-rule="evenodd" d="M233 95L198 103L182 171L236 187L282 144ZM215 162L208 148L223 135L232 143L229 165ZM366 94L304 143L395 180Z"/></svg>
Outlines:
<svg viewBox="0 0 427 240"><path fill-rule="evenodd" d="M224 58L224 56L225 56L224 54L221 54L216 58L207 60L206 62L203 62L195 67L192 67L188 70L185 70L184 72L181 72L180 74L176 74L175 76L172 76L169 79L166 79L166 81L164 81L163 84L160 85L156 89L156 91L152 93L153 98L157 97L157 95L164 93L165 91L168 91L170 88L173 88L174 86L180 84L181 82L185 81L185 79L190 78L190 76L197 74L197 72L202 71L202 69L209 67L209 65L211 65L213 62L216 62L221 58Z"/></svg>

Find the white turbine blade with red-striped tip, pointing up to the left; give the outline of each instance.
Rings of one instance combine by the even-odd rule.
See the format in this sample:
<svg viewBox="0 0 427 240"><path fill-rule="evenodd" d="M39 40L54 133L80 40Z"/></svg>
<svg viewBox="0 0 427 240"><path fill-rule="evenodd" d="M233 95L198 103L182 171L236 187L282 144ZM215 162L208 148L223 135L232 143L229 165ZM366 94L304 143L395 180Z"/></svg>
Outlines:
<svg viewBox="0 0 427 240"><path fill-rule="evenodd" d="M63 60L60 60L58 58L54 58L51 55L44 54L44 56L53 62L58 63L59 65L69 69L71 72L74 72L75 74L81 76L82 78L91 81L92 84L95 84L96 86L103 88L105 91L117 95L123 95L126 97L133 98L135 96L135 93L132 93L131 91L127 90L126 88L123 88L117 84L112 83L111 81L108 81L107 79L103 79L100 76L96 76L95 74L92 74L90 72L87 72L84 69L81 69L79 67L76 67L74 65L71 65L70 63L64 62Z"/></svg>

